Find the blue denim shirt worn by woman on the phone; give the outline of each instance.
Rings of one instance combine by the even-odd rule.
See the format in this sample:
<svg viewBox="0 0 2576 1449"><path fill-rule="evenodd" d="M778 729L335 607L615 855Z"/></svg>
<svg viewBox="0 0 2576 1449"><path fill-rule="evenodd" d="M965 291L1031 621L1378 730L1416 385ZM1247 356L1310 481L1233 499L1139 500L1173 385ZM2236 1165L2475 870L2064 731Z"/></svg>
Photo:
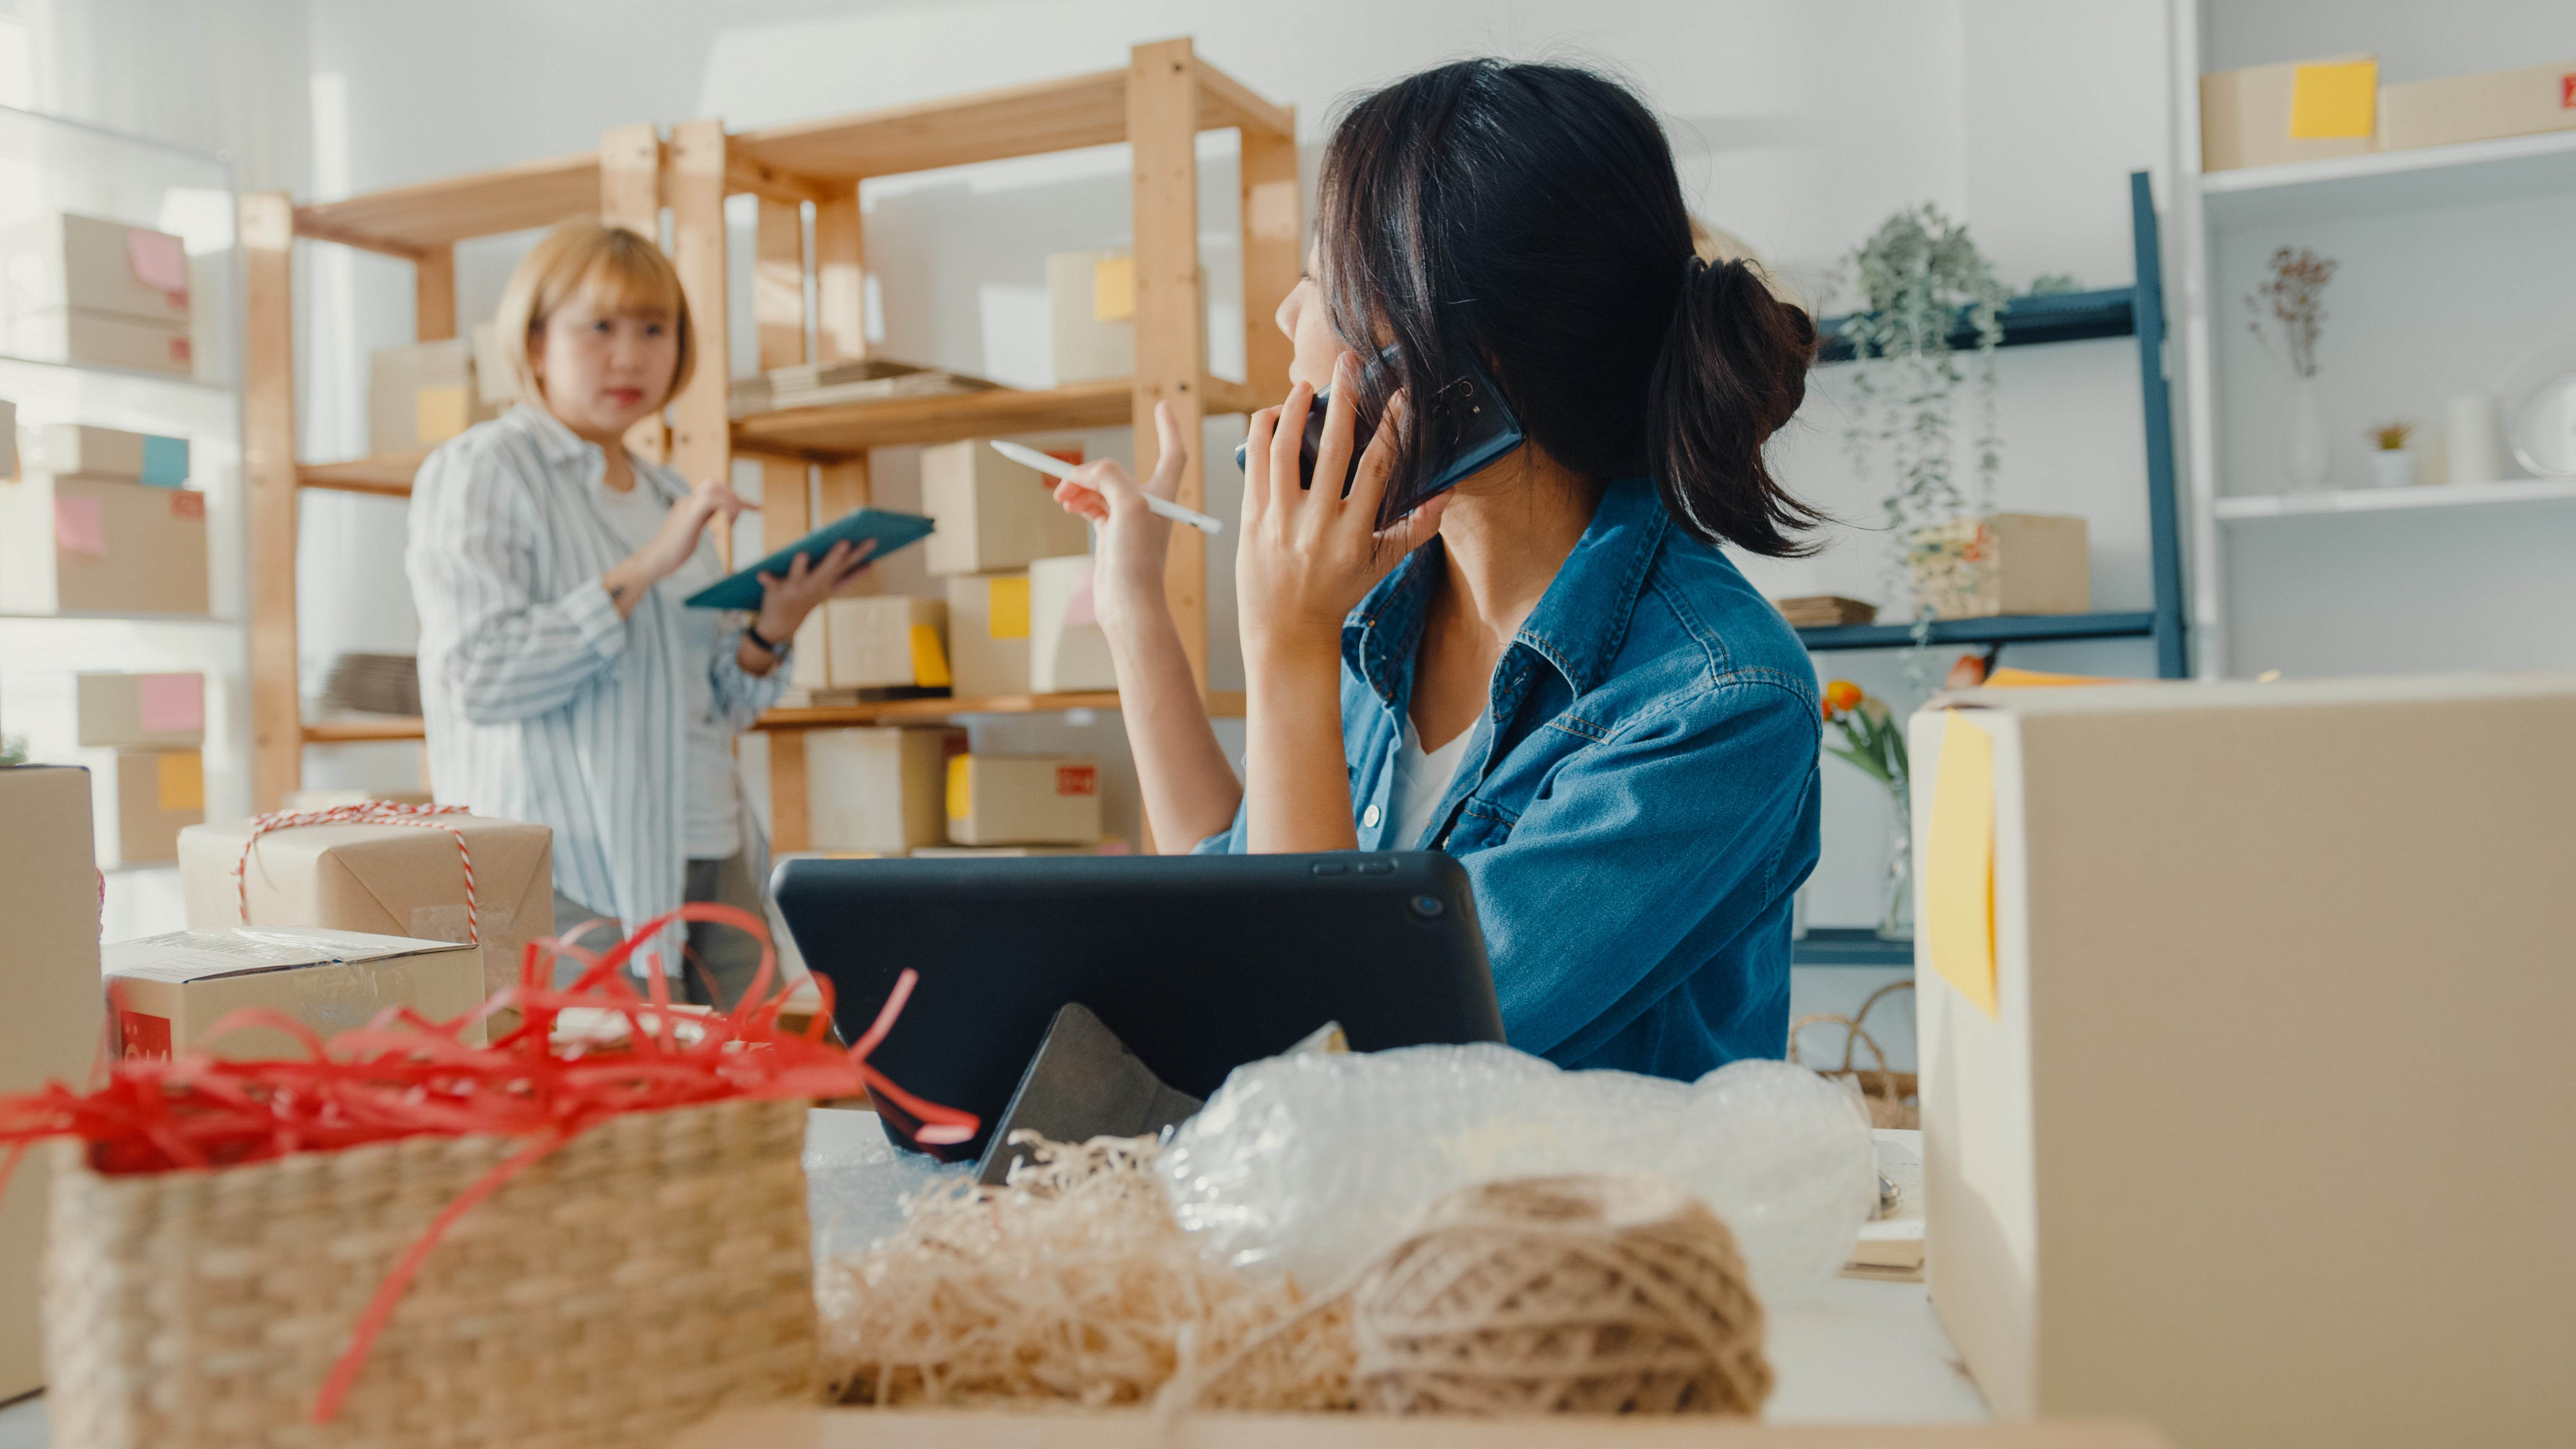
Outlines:
<svg viewBox="0 0 2576 1449"><path fill-rule="evenodd" d="M1816 864L1816 673L1654 485L1618 480L1494 665L1458 776L1391 841L1440 544L1342 624L1363 851L1448 851L1476 887L1512 1047L1695 1078L1788 1044L1790 895ZM1244 815L1198 851L1244 851Z"/></svg>

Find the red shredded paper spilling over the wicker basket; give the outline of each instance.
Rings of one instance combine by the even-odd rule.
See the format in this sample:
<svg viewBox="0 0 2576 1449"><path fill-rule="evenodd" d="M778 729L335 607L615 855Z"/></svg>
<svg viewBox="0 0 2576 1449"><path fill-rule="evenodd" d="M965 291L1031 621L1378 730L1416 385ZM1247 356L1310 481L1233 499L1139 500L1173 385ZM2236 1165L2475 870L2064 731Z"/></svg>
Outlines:
<svg viewBox="0 0 2576 1449"><path fill-rule="evenodd" d="M677 1016L659 969L639 995L626 962L675 920L708 920L760 938L760 972L734 1013ZM580 980L556 990L554 959L582 964ZM268 1008L232 1011L206 1039L245 1026L294 1034L304 1060L224 1062L204 1049L175 1060L129 1057L111 1067L103 1088L82 1096L62 1083L23 1096L0 1096L0 1191L31 1142L77 1137L90 1145L100 1173L165 1173L263 1163L289 1152L332 1152L399 1137L526 1137L528 1145L456 1194L435 1222L384 1276L358 1318L348 1351L314 1397L312 1421L330 1423L366 1366L368 1348L402 1302L420 1263L459 1217L500 1191L520 1171L577 1134L629 1111L665 1111L711 1101L840 1098L866 1093L876 1109L922 1142L966 1142L976 1116L922 1101L868 1065L912 995L904 972L886 1008L848 1049L827 1042L832 982L822 1011L804 1031L781 1031L778 1013L791 987L775 985L778 957L768 926L732 905L696 902L647 923L608 954L556 938L528 944L520 982L456 1021L428 1021L410 1008L386 1008L358 1031L327 1044L301 1021ZM626 1018L626 1042L613 1052L587 1044L554 1047L554 1021L564 1008L605 1008ZM523 1021L489 1047L471 1047L466 1026L502 1011ZM683 1042L677 1024L690 1026Z"/></svg>

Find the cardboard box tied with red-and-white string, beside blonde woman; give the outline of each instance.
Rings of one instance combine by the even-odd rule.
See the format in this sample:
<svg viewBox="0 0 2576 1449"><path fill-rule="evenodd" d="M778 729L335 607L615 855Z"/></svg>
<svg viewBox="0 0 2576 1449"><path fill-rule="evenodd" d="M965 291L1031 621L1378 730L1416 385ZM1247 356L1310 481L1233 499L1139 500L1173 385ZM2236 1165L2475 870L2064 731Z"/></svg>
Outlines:
<svg viewBox="0 0 2576 1449"><path fill-rule="evenodd" d="M523 820L433 815L422 825L296 825L250 846L247 820L185 830L178 841L188 928L314 926L464 944L466 877L456 835L474 861L474 923L482 928L482 1000L518 985L526 944L554 933L554 830Z"/></svg>

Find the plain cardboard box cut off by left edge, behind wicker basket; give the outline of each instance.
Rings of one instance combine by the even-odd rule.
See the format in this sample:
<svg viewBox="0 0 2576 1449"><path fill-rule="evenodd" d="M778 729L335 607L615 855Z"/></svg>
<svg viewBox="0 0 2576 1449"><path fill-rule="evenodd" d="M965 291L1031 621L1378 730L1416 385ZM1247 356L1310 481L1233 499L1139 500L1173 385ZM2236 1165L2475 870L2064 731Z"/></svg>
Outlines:
<svg viewBox="0 0 2576 1449"><path fill-rule="evenodd" d="M100 1055L98 866L90 781L77 768L0 768L0 1093L90 1085ZM44 1387L36 1263L52 1152L28 1152L0 1194L0 1403Z"/></svg>

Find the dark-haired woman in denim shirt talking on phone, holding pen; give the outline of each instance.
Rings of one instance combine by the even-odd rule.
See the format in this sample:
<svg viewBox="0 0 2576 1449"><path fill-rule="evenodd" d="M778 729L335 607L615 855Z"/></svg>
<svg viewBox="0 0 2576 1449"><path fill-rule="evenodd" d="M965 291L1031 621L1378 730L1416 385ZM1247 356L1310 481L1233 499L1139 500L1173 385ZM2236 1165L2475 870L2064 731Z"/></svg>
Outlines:
<svg viewBox="0 0 2576 1449"><path fill-rule="evenodd" d="M1448 851L1515 1047L1669 1078L1777 1057L1790 892L1816 861L1816 676L1718 544L1806 552L1819 516L1762 446L1806 394L1808 317L1747 263L1692 255L1636 95L1479 59L1342 119L1278 325L1293 387L1252 418L1236 554L1242 784L1164 608L1170 523L1141 503L1180 480L1170 415L1141 487L1103 462L1056 492L1100 523L1157 838ZM1528 441L1430 495L1461 415L1425 400L1476 371Z"/></svg>

